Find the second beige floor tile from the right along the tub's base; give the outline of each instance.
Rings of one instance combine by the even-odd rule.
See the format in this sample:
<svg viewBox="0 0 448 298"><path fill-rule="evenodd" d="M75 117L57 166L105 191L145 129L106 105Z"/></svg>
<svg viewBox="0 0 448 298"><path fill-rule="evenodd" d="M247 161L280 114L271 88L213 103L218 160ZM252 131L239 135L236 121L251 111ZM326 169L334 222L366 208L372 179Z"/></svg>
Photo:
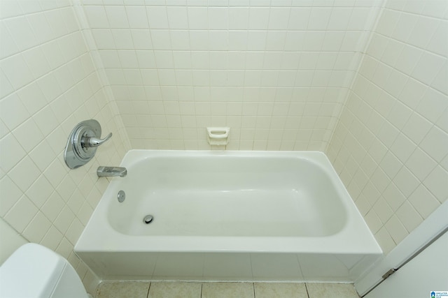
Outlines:
<svg viewBox="0 0 448 298"><path fill-rule="evenodd" d="M255 298L308 298L304 283L255 283Z"/></svg>

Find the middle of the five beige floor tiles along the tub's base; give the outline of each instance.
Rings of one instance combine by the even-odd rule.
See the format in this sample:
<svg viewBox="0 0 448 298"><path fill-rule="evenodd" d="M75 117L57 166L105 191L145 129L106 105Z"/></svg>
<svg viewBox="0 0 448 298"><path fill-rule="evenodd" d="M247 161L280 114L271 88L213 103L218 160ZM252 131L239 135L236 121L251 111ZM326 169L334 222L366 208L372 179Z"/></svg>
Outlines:
<svg viewBox="0 0 448 298"><path fill-rule="evenodd" d="M202 283L202 298L254 298L253 283Z"/></svg>

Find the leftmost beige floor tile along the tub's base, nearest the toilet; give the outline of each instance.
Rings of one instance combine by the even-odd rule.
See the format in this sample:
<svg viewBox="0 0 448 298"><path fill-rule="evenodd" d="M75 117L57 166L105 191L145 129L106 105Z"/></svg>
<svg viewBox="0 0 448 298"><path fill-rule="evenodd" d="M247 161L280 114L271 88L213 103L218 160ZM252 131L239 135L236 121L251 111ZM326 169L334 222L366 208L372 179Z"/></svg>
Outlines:
<svg viewBox="0 0 448 298"><path fill-rule="evenodd" d="M105 281L97 288L95 298L146 298L148 281Z"/></svg>

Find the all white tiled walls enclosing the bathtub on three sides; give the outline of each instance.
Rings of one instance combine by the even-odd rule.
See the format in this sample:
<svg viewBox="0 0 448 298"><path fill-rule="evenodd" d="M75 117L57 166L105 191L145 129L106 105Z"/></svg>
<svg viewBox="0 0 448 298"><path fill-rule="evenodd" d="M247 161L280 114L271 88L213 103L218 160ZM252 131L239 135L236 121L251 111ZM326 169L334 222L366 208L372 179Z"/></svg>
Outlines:
<svg viewBox="0 0 448 298"><path fill-rule="evenodd" d="M207 126L232 128L227 149L328 148L386 253L447 199L445 1L73 3L0 2L0 216L86 283L97 165L209 149ZM68 170L90 118L114 137Z"/></svg>

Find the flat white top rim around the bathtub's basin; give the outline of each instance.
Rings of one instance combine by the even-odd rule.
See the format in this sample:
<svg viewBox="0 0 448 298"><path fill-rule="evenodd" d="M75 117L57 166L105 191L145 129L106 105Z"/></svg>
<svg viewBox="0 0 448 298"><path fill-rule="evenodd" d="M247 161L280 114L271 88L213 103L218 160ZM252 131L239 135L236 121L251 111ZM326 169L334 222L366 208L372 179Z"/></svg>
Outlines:
<svg viewBox="0 0 448 298"><path fill-rule="evenodd" d="M99 230L99 226L105 225L105 212L107 208L106 199L102 199L94 209L89 222L83 233L76 242L75 251L78 252L100 252L100 251L123 251L123 252L191 252L191 253L215 253L215 252L235 252L235 253L333 253L333 254L374 254L381 255L382 251L374 239L372 232L367 227L363 217L356 208L348 191L344 187L341 179L335 172L328 157L322 151L201 151L201 150L146 150L133 149L125 154L122 166L132 167L134 163L146 159L148 153L155 156L163 154L180 154L181 156L204 155L207 156L273 156L281 154L283 156L300 155L307 156L311 163L319 165L331 179L335 179L335 186L338 193L344 194L344 207L347 211L346 224L339 232L325 237L209 237L209 236L139 236L122 234L114 230L106 219L106 230ZM312 157L312 158L311 158ZM330 165L330 168L328 168ZM123 178L111 179L111 184L117 184ZM108 186L108 188L111 186ZM360 220L360 221L359 221ZM358 221L356 223L355 221ZM353 239L353 234L358 235ZM98 245L101 238L108 239L107 243ZM198 246L201 242L207 242L207 248ZM328 246L331 244L331 248ZM294 249L293 249L294 248Z"/></svg>

